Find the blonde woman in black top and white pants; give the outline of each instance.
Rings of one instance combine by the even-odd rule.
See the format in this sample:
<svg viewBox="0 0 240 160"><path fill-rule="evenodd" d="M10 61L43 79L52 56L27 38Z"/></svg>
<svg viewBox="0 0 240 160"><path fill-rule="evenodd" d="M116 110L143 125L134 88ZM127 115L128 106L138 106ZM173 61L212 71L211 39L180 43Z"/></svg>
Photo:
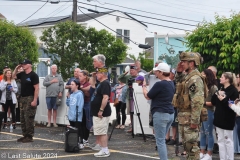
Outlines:
<svg viewBox="0 0 240 160"><path fill-rule="evenodd" d="M216 106L213 124L218 133L218 146L220 159L234 159L233 128L235 125L235 112L229 108L228 101L238 98L236 77L231 72L225 72L220 78L223 88L213 95L211 102Z"/></svg>

